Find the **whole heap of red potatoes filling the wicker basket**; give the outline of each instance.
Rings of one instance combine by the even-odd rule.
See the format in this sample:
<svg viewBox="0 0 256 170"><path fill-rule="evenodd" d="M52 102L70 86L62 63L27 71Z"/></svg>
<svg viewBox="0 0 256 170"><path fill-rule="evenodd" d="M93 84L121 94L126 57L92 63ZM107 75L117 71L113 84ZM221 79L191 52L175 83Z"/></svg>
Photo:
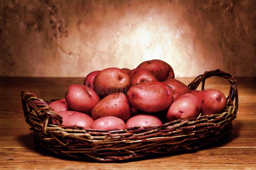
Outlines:
<svg viewBox="0 0 256 170"><path fill-rule="evenodd" d="M49 105L63 125L102 130L159 125L225 108L221 91L190 90L174 77L162 60L144 61L132 70L106 68L88 74L83 85L69 86L65 98Z"/></svg>

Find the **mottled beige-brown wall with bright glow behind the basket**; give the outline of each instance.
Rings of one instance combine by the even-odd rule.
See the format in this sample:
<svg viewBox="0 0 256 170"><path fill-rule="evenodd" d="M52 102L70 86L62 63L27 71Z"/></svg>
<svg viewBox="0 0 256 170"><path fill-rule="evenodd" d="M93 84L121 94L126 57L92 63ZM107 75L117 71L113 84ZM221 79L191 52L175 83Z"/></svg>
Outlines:
<svg viewBox="0 0 256 170"><path fill-rule="evenodd" d="M176 77L256 76L256 1L0 2L0 76L85 76L168 62Z"/></svg>

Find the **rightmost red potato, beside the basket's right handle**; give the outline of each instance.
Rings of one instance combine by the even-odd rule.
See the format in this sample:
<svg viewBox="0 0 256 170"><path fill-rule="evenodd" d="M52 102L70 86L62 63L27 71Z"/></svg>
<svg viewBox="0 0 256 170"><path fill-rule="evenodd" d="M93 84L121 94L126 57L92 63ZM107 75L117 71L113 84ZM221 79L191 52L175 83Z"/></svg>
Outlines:
<svg viewBox="0 0 256 170"><path fill-rule="evenodd" d="M202 103L202 115L212 115L220 113L226 107L225 95L216 89L208 89L197 92Z"/></svg>

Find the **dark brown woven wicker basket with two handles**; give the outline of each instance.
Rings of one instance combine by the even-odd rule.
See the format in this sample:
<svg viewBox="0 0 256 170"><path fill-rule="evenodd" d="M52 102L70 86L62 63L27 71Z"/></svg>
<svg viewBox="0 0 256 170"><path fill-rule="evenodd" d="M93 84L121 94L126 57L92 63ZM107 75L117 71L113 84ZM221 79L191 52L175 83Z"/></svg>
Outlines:
<svg viewBox="0 0 256 170"><path fill-rule="evenodd" d="M130 161L149 155L196 150L221 142L230 133L238 109L234 77L220 69L206 71L188 87L196 89L202 82L203 90L205 79L211 76L222 77L230 84L227 106L223 113L199 115L156 126L112 131L83 129L75 125L63 126L62 117L32 92L22 90L21 101L26 122L31 126L30 130L34 131L35 142L46 150L87 160ZM52 120L57 124L53 124Z"/></svg>

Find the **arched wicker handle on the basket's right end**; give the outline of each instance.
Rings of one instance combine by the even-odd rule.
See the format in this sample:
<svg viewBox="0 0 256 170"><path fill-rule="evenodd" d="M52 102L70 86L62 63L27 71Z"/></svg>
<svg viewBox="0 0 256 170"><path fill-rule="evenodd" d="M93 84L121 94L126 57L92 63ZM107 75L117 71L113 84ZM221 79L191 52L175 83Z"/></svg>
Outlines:
<svg viewBox="0 0 256 170"><path fill-rule="evenodd" d="M238 91L236 79L233 75L224 72L221 69L205 71L204 74L198 75L191 83L188 84L190 90L196 90L199 84L202 82L202 89L204 90L205 80L212 76L218 76L226 79L230 85L230 90L228 93L227 101L229 100L230 104L233 104L235 101L236 110L238 109Z"/></svg>

